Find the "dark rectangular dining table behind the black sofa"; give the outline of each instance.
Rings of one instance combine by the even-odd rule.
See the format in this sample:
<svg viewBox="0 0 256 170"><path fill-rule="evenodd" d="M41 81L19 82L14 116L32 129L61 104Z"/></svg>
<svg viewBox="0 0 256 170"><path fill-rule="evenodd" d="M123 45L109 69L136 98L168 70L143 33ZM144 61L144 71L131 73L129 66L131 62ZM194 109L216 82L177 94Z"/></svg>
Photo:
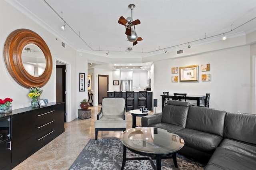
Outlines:
<svg viewBox="0 0 256 170"><path fill-rule="evenodd" d="M164 109L164 101L167 100L175 100L176 97L174 95L161 95L162 96L162 110ZM196 101L196 105L200 106L200 101L204 100L206 98L206 95L192 95L192 94L188 94L186 96L179 96L180 99L186 99L186 100L195 100Z"/></svg>

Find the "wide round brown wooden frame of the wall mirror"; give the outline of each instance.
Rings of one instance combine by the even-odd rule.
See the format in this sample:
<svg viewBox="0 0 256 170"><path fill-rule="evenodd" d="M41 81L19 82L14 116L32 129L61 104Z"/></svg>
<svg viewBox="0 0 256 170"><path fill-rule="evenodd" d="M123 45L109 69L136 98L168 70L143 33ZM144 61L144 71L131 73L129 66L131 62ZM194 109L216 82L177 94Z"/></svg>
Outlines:
<svg viewBox="0 0 256 170"><path fill-rule="evenodd" d="M30 75L22 64L22 51L29 43L34 43L42 49L46 59L44 73L38 77ZM52 74L52 55L50 49L38 34L28 29L15 30L8 36L4 44L4 62L12 78L26 88L34 86L43 87L49 81Z"/></svg>

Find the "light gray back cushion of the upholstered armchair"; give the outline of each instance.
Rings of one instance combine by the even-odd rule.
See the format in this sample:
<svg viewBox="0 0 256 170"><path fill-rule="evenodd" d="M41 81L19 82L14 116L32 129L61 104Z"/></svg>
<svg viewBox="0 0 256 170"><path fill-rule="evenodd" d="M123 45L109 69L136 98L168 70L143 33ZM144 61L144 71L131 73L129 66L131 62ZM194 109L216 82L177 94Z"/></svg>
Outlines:
<svg viewBox="0 0 256 170"><path fill-rule="evenodd" d="M102 99L103 115L124 115L125 100L124 98L104 98Z"/></svg>

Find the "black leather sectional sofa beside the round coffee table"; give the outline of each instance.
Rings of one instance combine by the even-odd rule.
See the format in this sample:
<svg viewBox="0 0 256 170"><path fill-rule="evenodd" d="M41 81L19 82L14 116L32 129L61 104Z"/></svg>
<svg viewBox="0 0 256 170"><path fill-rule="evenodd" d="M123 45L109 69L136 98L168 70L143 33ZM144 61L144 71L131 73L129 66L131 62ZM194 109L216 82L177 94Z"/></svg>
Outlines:
<svg viewBox="0 0 256 170"><path fill-rule="evenodd" d="M256 115L168 101L162 113L141 121L142 126L163 128L182 137L185 145L178 153L207 163L206 170L256 168Z"/></svg>

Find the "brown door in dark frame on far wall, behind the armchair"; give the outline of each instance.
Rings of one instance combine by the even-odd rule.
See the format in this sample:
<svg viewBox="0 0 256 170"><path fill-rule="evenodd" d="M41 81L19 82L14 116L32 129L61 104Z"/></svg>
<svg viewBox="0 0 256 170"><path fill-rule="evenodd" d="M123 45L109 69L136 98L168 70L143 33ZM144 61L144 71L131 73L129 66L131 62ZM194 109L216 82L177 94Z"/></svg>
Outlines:
<svg viewBox="0 0 256 170"><path fill-rule="evenodd" d="M102 104L102 98L108 97L108 75L98 75L98 104Z"/></svg>

